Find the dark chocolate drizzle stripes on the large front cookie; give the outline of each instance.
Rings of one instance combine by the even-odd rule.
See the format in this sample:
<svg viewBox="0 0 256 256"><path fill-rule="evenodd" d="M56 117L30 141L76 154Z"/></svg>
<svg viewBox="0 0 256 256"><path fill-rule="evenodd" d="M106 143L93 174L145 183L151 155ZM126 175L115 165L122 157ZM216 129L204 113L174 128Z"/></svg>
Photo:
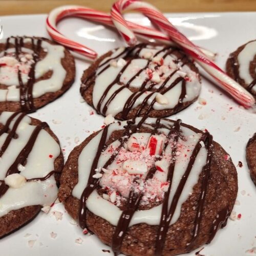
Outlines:
<svg viewBox="0 0 256 256"><path fill-rule="evenodd" d="M147 111L148 112L148 111ZM119 139L120 145L115 150L115 152L111 155L108 161L104 164L103 168L107 168L116 158L118 155L118 152L120 148L123 146L124 142L127 141L127 139L130 138L130 136L136 132L140 126L145 122L147 118L147 115L144 115L141 120L135 124L135 118L132 120L127 121L127 125L124 126L125 132L124 136ZM208 180L209 180L209 174L210 174L210 165L211 165L211 159L212 159L212 136L206 132L203 133L199 141L194 147L194 150L190 156L188 165L186 167L186 170L184 172L184 175L182 176L178 187L175 191L174 197L172 201L169 204L169 195L171 190L171 184L173 180L173 174L176 164L176 150L177 150L177 143L178 139L182 137L181 130L180 130L180 124L181 120L177 120L172 127L169 128L169 133L166 137L166 141L163 147L163 152L165 151L168 143L170 140L173 142L172 147L172 161L170 161L168 166L168 173L167 173L167 182L170 184L168 187L168 190L164 193L163 197L163 203L162 203L162 212L161 212L161 218L160 223L158 227L158 232L156 236L156 249L155 249L155 255L161 255L164 248L164 242L166 239L166 234L170 225L170 222L172 221L172 218L174 216L174 212L176 210L180 195L186 185L187 178L191 172L191 169L193 168L193 165L195 163L195 160L200 152L200 149L202 147L202 144L204 144L206 150L207 150L207 158L206 158L206 164L204 165L202 169L202 173L204 174L202 179L202 185L201 185L201 192L199 196L199 201L196 209L196 217L194 222L194 230L193 235L191 237L191 241L187 244L187 251L193 249L193 245L198 238L198 234L200 232L200 225L202 222L202 216L203 216L203 210L204 210L204 204L205 204L205 197L207 194L207 187L208 187ZM151 134L157 134L158 129L160 127L163 127L163 124L161 124L161 118L156 119L155 125L152 129ZM91 172L88 180L87 187L83 190L82 196L80 198L80 209L79 209L79 224L82 228L87 227L86 226L86 201L88 197L91 195L94 189L97 188L99 185L98 179L93 179L92 176L95 173L95 169L98 167L98 160L100 157L101 152L105 148L105 143L107 140L108 135L108 126L106 126L101 134L99 147L97 150L97 153L95 155L95 158L93 160L93 164L91 167ZM161 156L156 157L156 161L159 160ZM156 172L156 166L154 165L147 173L145 180L153 178L154 174ZM127 230L129 228L130 222L132 220L132 217L135 213L135 211L138 209L141 198L143 196L143 193L136 193L133 188L130 190L129 198L127 199L127 203L125 205L124 210L122 211L122 214L119 218L118 224L116 226L115 232L113 234L112 239L112 249L117 255L121 251L122 241L127 233ZM217 230L225 225L225 221L227 217L229 216L230 212L228 209L223 209L219 212L219 214L216 217L216 220L213 223L212 230L210 232L210 239L208 242L214 238Z"/></svg>

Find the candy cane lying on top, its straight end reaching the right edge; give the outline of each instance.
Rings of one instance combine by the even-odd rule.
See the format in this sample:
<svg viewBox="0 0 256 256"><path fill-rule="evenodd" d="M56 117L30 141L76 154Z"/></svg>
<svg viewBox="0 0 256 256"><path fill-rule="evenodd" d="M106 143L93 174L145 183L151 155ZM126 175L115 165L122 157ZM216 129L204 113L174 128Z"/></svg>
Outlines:
<svg viewBox="0 0 256 256"><path fill-rule="evenodd" d="M231 79L223 70L221 70L214 62L212 62L196 45L180 33L168 19L153 5L140 2L139 0L119 0L112 9L111 16L113 23L119 30L127 44L136 44L136 37L129 28L121 12L124 10L139 11L152 20L160 29L165 31L167 35L175 41L185 53L189 54L195 61L217 82L218 85L228 92L240 104L249 108L255 104L254 97L240 86L236 81Z"/></svg>

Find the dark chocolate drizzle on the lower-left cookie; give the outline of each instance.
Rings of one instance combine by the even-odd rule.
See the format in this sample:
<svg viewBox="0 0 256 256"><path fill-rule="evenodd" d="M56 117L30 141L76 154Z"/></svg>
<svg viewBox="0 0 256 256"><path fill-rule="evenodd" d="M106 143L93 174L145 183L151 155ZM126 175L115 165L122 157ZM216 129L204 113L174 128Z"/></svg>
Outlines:
<svg viewBox="0 0 256 256"><path fill-rule="evenodd" d="M14 120L14 118L19 114L19 116L16 118L13 127L10 131L10 133L8 134L8 136L6 137L4 144L1 147L1 151L0 151L0 155L2 156L4 154L4 152L6 151L8 145L11 142L11 139L14 138L14 135L16 134L16 130L18 125L20 124L20 122L23 120L23 118L26 116L25 113L14 113L12 114L7 122L6 125L0 130L0 135L2 135L3 133L6 133L9 129L9 125L11 123L11 121ZM7 170L6 173L6 177L8 175L11 174L17 174L20 173L18 170L18 164L22 164L24 165L25 161L27 160L30 152L32 151L32 148L34 146L34 143L37 139L37 136L39 134L39 132L44 129L45 127L47 127L48 124L46 122L41 122L39 125L37 125L34 129L34 131L32 132L27 144L22 148L22 150L19 152L18 156L16 157L16 159L14 160L14 162L12 163L12 165L9 167L9 169ZM54 171L53 171L54 172ZM46 180L48 179L53 172L49 173L46 177L43 178L34 178L31 180ZM2 184L0 185L0 198L6 193L6 191L8 190L9 186L5 184L4 181L2 181Z"/></svg>

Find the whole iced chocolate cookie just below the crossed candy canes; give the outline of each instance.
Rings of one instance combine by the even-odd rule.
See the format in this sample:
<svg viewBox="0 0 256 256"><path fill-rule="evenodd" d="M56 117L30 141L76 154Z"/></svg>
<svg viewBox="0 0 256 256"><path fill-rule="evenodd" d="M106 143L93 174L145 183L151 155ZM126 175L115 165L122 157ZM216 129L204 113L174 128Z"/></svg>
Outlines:
<svg viewBox="0 0 256 256"><path fill-rule="evenodd" d="M170 116L194 102L201 90L198 69L183 52L148 44L104 54L81 82L82 97L98 113L120 120Z"/></svg>

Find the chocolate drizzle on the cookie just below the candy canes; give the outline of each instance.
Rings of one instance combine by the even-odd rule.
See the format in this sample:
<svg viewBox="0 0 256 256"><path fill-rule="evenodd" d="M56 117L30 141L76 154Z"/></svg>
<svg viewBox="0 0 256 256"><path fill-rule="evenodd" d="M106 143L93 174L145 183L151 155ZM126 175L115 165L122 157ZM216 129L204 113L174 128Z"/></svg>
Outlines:
<svg viewBox="0 0 256 256"><path fill-rule="evenodd" d="M141 50L146 47L146 44L139 44L136 45L134 47L128 47L125 48L120 54L118 54L116 57L112 57L109 59L106 59L105 61L103 61L103 63L101 63L101 65L99 65L98 68L102 68L104 65L105 67L103 67L98 74L96 74L96 72L94 72L91 76L87 77L86 80L84 80L82 82L82 86L80 88L80 93L83 95L84 92L86 92L86 90L88 90L88 88L90 86L92 86L92 84L95 82L95 79L102 74L106 69L110 68L110 61L117 59L118 57L122 57L123 59L126 60L126 64L125 66L121 69L121 71L118 73L118 75L116 76L116 78L106 87L106 89L103 91L97 105L95 106L95 109L97 111L97 113L101 113L103 115L106 115L106 112L108 111L109 105L110 103L118 96L118 94L123 91L125 88L129 88L131 82L138 77L143 71L145 71L146 69L148 69L149 65L150 65L150 60L147 61L147 64L145 65L144 68L140 69L133 77L131 77L129 79L129 81L127 81L125 84L120 82L120 77L123 74L123 72L127 69L127 67L130 66L131 62L133 59L136 59L139 57L139 54L141 52ZM166 51L166 52L165 52ZM174 53L175 51L179 52L178 49L173 48L173 47L164 47L163 49L159 50L157 53L155 53L155 55L153 57L156 57L158 54L160 54L161 52L165 52L164 55L162 56L163 59L165 59L168 55ZM182 54L181 52L179 52L180 54ZM184 54L182 54L182 57L180 59L177 60L178 62L182 62L181 63L181 67L183 67L184 65L187 64L188 60L184 60L186 56ZM161 65L156 65L155 66L155 70L159 69ZM178 109L180 108L183 99L186 96L186 79L184 77L178 77L177 79L175 79L174 82L172 82L169 86L166 86L167 82L170 80L170 78L172 78L173 75L176 74L176 72L179 70L179 68L177 70L175 70L174 72L172 72L172 74L170 74L169 76L166 77L166 79L162 82L161 86L158 89L154 89L154 86L157 85L156 82L150 82L150 78L146 78L143 83L141 84L141 87L139 89L139 91L136 91L134 93L131 94L131 96L126 100L126 102L124 102L124 106L123 106L123 110L121 112L121 119L122 120L126 120L127 119L127 115L130 113L130 111L134 108L134 105L137 101L137 99L144 94L146 91L151 91L153 90L149 95L147 95L143 102L140 104L140 108L137 111L137 113L135 114L135 117L139 117L139 116L143 116L144 112L145 112L145 108L147 105L147 101L151 98L157 95L157 93L161 93L161 94L165 94L166 92L168 92L169 90L173 89L178 83L182 83L181 84L181 94L179 96L179 100L178 103L174 106L174 110L178 111ZM160 77L163 74L160 75ZM109 92L111 90L111 88L115 85L115 84L119 84L120 88L118 88L117 90L115 90L110 96L109 96ZM155 94L155 95L154 95ZM104 101L104 99L108 96L108 100L104 103L104 105L102 106L102 103ZM150 104L150 106L147 108L147 112L148 109L152 110L154 103L156 102L156 99L154 97L154 99L152 100L152 103Z"/></svg>

